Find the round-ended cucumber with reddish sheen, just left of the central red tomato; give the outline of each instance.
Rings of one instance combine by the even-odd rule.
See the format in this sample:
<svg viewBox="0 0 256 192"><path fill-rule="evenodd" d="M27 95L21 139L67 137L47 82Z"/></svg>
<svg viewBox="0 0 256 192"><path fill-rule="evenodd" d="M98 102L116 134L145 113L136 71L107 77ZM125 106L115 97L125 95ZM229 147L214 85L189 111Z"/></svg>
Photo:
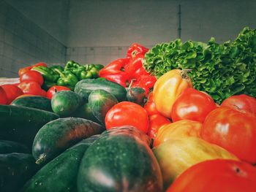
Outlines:
<svg viewBox="0 0 256 192"><path fill-rule="evenodd" d="M91 91L89 95L89 106L94 116L99 122L105 124L105 116L115 104L118 104L118 100L113 94L102 89Z"/></svg>

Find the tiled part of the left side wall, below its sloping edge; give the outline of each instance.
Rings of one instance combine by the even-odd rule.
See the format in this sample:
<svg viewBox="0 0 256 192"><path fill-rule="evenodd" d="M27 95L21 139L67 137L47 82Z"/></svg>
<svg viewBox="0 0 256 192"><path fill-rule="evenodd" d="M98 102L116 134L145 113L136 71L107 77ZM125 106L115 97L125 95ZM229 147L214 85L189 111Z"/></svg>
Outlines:
<svg viewBox="0 0 256 192"><path fill-rule="evenodd" d="M18 69L39 61L64 64L66 47L0 0L0 77L18 77Z"/></svg>

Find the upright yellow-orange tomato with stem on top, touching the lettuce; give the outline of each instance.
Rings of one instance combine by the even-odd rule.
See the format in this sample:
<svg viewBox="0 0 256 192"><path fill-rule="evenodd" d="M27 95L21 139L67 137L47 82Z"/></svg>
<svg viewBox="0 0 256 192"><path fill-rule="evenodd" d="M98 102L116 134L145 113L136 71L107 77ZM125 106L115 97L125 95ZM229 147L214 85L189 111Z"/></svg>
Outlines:
<svg viewBox="0 0 256 192"><path fill-rule="evenodd" d="M157 110L171 118L173 103L185 88L191 88L192 82L186 71L173 69L163 74L154 85L153 97Z"/></svg>

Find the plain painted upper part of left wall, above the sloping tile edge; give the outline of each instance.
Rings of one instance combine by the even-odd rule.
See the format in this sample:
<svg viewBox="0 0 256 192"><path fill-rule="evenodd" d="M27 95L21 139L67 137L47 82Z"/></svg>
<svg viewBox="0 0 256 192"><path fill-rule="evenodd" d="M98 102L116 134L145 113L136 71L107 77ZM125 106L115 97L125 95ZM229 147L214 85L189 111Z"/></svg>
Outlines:
<svg viewBox="0 0 256 192"><path fill-rule="evenodd" d="M67 44L69 0L5 0L62 44Z"/></svg>

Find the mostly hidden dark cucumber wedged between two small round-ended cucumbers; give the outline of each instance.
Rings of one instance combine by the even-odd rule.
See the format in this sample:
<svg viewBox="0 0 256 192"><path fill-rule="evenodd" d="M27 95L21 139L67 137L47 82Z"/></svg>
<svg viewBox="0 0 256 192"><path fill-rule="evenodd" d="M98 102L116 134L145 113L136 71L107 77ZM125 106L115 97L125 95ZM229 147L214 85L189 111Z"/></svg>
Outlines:
<svg viewBox="0 0 256 192"><path fill-rule="evenodd" d="M92 113L91 107L89 106L88 102L78 107L78 110L75 111L74 117L84 118L84 119L92 120L96 123L100 123L99 120L97 120L97 118L95 118L94 114Z"/></svg>

